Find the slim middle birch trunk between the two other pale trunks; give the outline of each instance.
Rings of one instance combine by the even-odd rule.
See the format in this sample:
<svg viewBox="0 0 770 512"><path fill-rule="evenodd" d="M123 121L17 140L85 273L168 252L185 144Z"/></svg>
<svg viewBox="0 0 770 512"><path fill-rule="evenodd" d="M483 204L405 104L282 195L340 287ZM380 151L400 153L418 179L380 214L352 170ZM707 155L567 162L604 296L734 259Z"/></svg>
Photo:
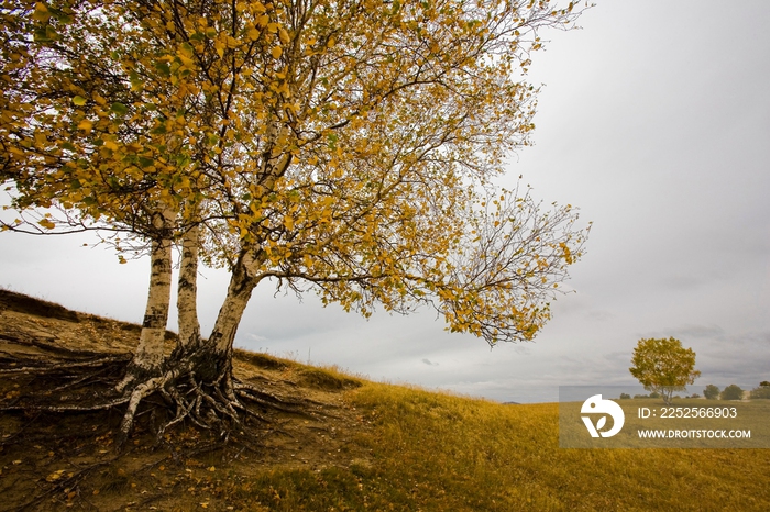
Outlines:
<svg viewBox="0 0 770 512"><path fill-rule="evenodd" d="M182 242L182 263L177 289L177 313L179 319L179 343L183 346L196 344L200 340L198 322L198 230L191 227Z"/></svg>

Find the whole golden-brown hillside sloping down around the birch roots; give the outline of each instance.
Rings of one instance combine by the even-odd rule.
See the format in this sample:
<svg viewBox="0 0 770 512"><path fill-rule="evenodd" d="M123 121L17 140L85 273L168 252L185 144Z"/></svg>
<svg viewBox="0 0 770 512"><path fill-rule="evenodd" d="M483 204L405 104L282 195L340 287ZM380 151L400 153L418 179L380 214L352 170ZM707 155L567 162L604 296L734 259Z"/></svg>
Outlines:
<svg viewBox="0 0 770 512"><path fill-rule="evenodd" d="M119 353L135 333L0 297L2 403L36 386L8 371L13 354ZM302 409L266 412L262 437L226 446L189 425L154 446L148 413L122 454L120 411L0 413L0 510L770 510L770 449L563 449L556 403L503 405L245 352L237 372Z"/></svg>

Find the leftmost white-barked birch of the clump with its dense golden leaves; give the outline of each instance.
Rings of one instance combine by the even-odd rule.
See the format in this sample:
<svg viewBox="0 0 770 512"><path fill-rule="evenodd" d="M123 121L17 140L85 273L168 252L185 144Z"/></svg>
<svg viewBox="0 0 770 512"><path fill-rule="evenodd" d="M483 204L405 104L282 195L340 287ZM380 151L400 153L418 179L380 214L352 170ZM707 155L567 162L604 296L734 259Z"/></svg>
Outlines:
<svg viewBox="0 0 770 512"><path fill-rule="evenodd" d="M152 272L132 371L152 375L163 361L172 241L175 233L196 233L177 211L196 194L185 174L189 152L158 122L164 109L180 108L177 88L163 73L129 69L131 59L153 65L163 58L162 41L155 32L132 30L128 10L101 3L3 5L2 178L14 185L18 210L63 213L47 211L33 222L22 214L25 221L3 227L97 229L139 240L151 255ZM163 107L152 110L154 104ZM131 245L129 240L122 243ZM120 243L117 238L119 248ZM189 272L183 274L189 281ZM186 318L183 324L194 323L197 319Z"/></svg>

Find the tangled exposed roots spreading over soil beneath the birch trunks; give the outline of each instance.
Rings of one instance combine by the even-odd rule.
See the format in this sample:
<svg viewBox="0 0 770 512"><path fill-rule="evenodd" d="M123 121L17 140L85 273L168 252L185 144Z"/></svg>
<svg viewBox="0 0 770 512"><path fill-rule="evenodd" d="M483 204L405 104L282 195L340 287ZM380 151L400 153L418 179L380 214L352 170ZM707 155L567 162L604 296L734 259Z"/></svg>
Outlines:
<svg viewBox="0 0 770 512"><path fill-rule="evenodd" d="M273 394L240 381L229 365L213 366L212 371L199 353L173 356L166 369L155 376L132 375L130 360L128 354L94 357L74 350L56 358L9 354L0 360L0 375L6 379L0 411L88 413L124 408L114 444L121 449L145 413L150 413L151 428L161 444L183 423L211 432L219 442L228 442L232 435L239 442L260 438L272 430L265 427L270 423L265 413L315 418L312 411L319 409L312 401ZM205 375L216 378L206 379ZM130 385L118 392L119 382Z"/></svg>

